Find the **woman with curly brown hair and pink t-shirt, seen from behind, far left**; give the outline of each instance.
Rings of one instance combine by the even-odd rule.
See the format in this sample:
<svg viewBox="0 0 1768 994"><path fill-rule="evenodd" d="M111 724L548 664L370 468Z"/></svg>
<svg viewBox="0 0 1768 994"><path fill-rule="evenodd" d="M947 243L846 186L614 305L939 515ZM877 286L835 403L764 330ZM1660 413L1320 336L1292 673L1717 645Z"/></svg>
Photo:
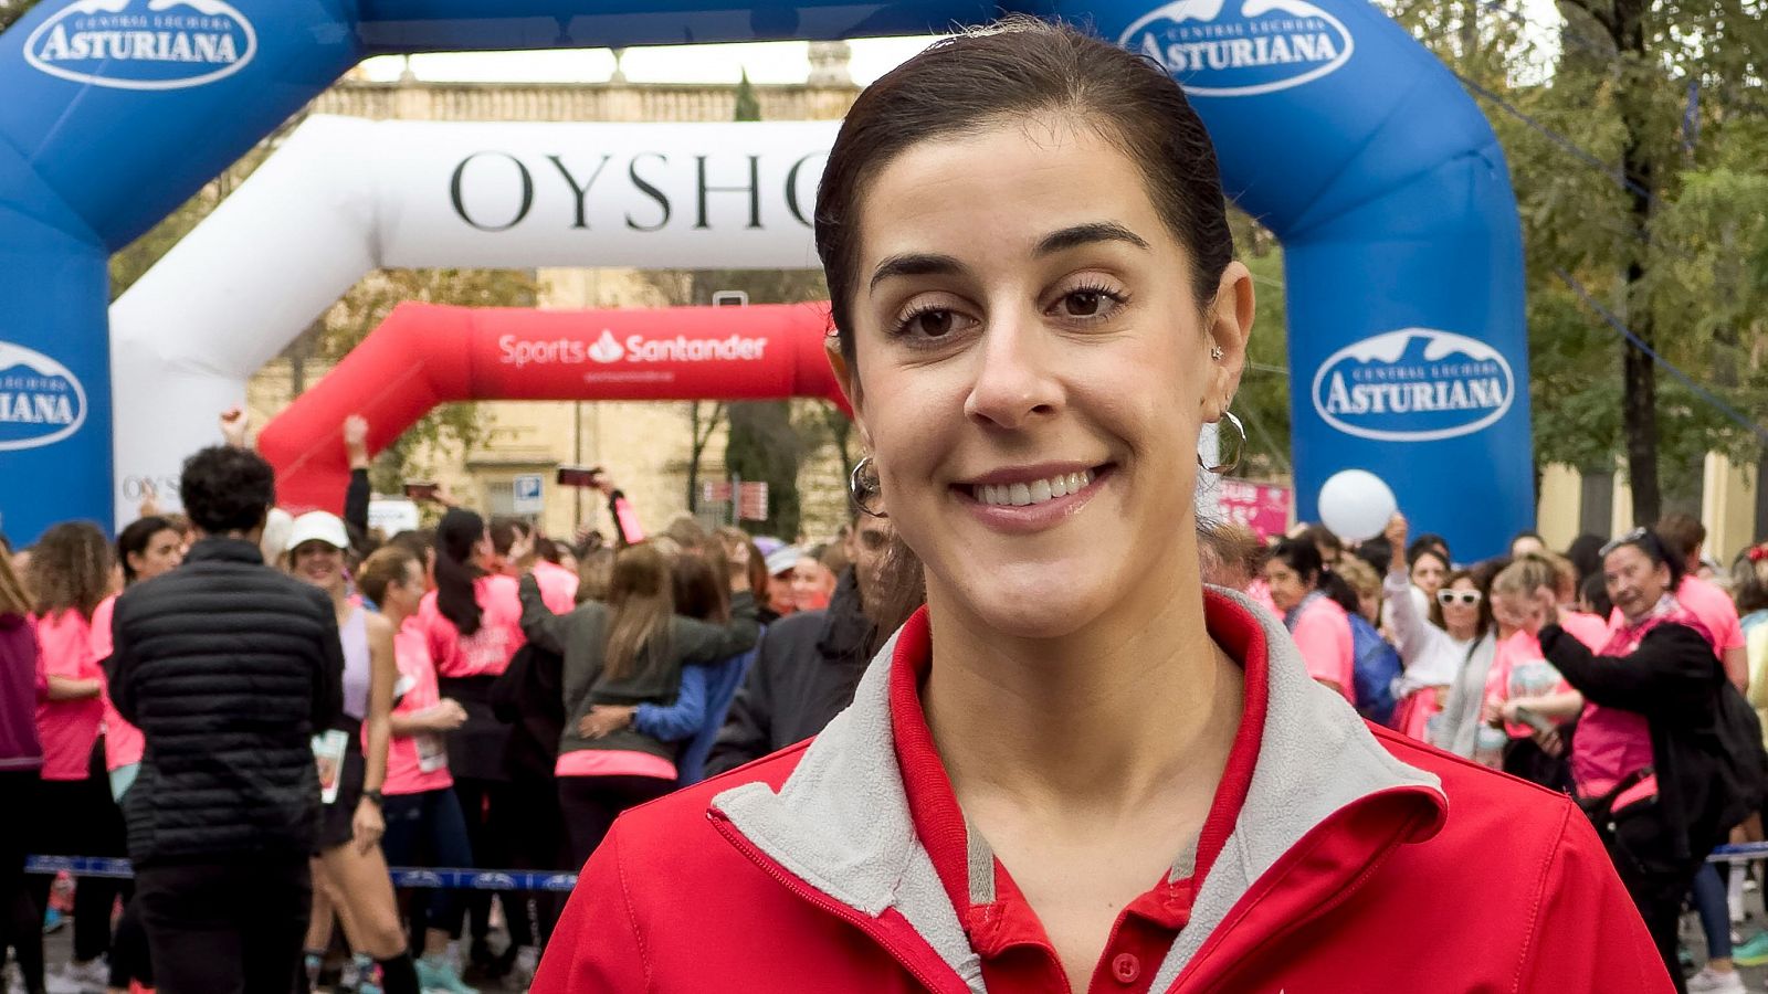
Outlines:
<svg viewBox="0 0 1768 994"><path fill-rule="evenodd" d="M122 810L104 773L104 670L92 654L92 614L111 593L111 550L88 522L42 532L32 550L37 644L48 674L48 699L37 704L42 739L42 791L35 851L55 856L122 856ZM50 877L35 877L39 907L48 907ZM110 911L118 883L83 877L74 891L74 962L69 976L90 987L110 978Z"/></svg>

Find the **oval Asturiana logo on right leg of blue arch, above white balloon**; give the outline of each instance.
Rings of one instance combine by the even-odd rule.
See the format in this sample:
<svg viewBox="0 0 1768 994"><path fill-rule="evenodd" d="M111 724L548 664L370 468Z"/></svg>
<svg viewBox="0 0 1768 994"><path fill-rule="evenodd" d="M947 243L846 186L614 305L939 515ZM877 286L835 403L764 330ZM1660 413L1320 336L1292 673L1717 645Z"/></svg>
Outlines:
<svg viewBox="0 0 1768 994"><path fill-rule="evenodd" d="M1517 377L1490 345L1404 327L1333 352L1314 373L1314 410L1333 428L1383 442L1471 435L1510 410Z"/></svg>

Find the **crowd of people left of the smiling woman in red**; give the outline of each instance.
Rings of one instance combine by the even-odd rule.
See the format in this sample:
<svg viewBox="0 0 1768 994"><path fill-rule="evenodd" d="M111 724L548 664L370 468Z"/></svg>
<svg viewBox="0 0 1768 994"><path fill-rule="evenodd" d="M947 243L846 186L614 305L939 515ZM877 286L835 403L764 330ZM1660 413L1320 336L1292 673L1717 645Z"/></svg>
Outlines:
<svg viewBox="0 0 1768 994"><path fill-rule="evenodd" d="M573 872L622 810L815 734L877 647L888 522L645 538L601 478L613 539L456 506L382 536L366 423L345 426L343 516L274 508L242 419L221 424L182 513L0 555L0 785L41 812L9 819L0 860L134 863L78 877L58 969L53 877L0 879L30 994L525 989L562 895L396 893L389 865Z"/></svg>

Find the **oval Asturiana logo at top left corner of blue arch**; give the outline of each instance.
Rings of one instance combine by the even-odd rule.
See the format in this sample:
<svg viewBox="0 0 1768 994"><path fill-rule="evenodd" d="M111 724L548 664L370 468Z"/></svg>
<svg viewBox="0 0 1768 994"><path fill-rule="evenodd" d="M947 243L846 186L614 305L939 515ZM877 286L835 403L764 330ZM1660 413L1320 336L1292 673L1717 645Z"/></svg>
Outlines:
<svg viewBox="0 0 1768 994"><path fill-rule="evenodd" d="M251 21L221 0L74 0L25 39L37 69L122 90L200 87L256 53Z"/></svg>

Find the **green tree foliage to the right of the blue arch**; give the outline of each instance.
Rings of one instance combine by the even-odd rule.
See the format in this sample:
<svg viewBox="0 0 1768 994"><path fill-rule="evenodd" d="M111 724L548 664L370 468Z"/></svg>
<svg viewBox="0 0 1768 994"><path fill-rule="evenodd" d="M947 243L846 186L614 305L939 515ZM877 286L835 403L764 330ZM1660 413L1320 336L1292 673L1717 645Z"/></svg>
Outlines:
<svg viewBox="0 0 1768 994"><path fill-rule="evenodd" d="M1512 0L1391 12L1467 81L1510 161L1536 458L1607 470L1625 456L1646 522L1690 497L1708 449L1763 455L1768 27L1759 0L1558 9L1561 25Z"/></svg>

